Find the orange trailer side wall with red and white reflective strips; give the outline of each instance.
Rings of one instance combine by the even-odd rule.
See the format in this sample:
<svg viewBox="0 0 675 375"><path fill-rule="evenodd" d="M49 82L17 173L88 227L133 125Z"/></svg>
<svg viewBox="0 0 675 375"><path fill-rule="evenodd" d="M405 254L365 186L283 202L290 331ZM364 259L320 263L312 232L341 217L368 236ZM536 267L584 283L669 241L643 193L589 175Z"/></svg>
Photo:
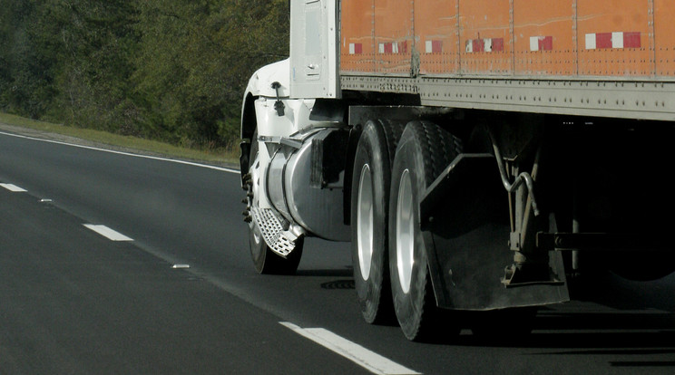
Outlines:
<svg viewBox="0 0 675 375"><path fill-rule="evenodd" d="M673 77L671 0L342 0L341 71Z"/></svg>

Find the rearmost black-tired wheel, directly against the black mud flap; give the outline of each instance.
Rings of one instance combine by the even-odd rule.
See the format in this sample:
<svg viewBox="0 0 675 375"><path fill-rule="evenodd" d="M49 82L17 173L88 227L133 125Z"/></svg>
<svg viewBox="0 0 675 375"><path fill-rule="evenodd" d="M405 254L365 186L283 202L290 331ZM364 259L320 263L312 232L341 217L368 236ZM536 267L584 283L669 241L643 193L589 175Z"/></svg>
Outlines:
<svg viewBox="0 0 675 375"><path fill-rule="evenodd" d="M389 272L396 319L411 341L459 332L452 316L436 305L427 261L433 241L420 229L419 202L460 152L459 139L422 121L406 126L396 149L389 196Z"/></svg>

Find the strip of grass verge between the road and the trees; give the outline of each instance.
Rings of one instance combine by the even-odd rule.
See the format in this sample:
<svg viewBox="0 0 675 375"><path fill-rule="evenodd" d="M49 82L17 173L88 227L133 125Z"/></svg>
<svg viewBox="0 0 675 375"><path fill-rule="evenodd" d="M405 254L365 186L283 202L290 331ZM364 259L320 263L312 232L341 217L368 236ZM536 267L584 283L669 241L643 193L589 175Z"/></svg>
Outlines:
<svg viewBox="0 0 675 375"><path fill-rule="evenodd" d="M39 135L41 138L54 138L54 135L59 135L129 152L147 153L171 159L188 159L221 166L239 166L239 156L232 150L181 148L156 140L122 136L101 130L73 128L51 122L26 119L3 112L0 112L0 124L18 130L32 130L27 135Z"/></svg>

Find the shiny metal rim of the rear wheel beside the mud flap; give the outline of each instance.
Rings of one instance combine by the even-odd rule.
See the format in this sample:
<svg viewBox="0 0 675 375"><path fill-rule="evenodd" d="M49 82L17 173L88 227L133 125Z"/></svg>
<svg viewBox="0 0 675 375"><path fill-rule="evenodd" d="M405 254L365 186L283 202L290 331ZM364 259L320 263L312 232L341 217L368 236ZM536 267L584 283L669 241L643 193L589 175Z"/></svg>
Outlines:
<svg viewBox="0 0 675 375"><path fill-rule="evenodd" d="M401 175L396 202L396 268L401 290L408 293L415 264L415 205L408 169Z"/></svg>

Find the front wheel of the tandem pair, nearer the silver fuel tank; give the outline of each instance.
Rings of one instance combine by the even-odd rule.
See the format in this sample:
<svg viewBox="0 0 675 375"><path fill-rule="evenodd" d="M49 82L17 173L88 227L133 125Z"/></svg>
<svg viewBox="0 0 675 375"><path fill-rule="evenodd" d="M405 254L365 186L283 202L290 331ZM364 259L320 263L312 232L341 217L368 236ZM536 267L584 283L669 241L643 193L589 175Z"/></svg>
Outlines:
<svg viewBox="0 0 675 375"><path fill-rule="evenodd" d="M402 130L398 123L368 121L358 139L354 158L352 264L358 303L368 323L393 322L386 217L391 159Z"/></svg>

